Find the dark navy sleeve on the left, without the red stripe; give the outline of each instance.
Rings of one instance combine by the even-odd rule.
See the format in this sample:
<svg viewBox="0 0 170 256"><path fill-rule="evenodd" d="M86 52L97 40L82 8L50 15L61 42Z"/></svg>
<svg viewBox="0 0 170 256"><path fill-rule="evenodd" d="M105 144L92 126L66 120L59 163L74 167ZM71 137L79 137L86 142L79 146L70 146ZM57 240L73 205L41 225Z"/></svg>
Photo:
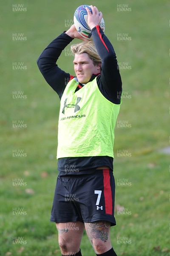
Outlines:
<svg viewBox="0 0 170 256"><path fill-rule="evenodd" d="M38 67L47 83L57 92L61 99L68 81L72 78L69 73L61 70L56 62L63 49L73 40L63 32L44 49L37 60Z"/></svg>

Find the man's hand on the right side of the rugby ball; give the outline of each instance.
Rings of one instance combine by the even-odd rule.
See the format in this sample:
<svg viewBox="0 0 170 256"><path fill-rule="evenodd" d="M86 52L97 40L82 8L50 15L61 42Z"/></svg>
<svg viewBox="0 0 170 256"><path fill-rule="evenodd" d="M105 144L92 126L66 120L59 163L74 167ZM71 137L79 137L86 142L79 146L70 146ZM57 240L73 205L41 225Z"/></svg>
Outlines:
<svg viewBox="0 0 170 256"><path fill-rule="evenodd" d="M102 20L102 12L99 12L96 6L90 6L92 10L88 9L88 7L85 7L86 11L88 12L88 26L90 29L93 29L95 26L100 25L100 22Z"/></svg>

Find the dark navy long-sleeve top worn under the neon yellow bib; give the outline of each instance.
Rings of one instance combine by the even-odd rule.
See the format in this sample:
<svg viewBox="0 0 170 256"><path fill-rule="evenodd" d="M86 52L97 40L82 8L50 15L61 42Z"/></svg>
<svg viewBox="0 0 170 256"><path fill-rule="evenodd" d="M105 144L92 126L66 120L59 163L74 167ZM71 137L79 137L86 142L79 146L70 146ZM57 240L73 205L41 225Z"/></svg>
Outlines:
<svg viewBox="0 0 170 256"><path fill-rule="evenodd" d="M122 81L116 54L111 42L102 32L99 26L91 30L97 52L102 60L101 74L91 76L92 81L97 76L97 85L106 99L114 104L120 103L122 93ZM61 70L56 64L62 50L73 40L63 32L44 49L37 60L38 67L47 83L57 92L61 99L65 87L74 76ZM85 86L79 83L76 90ZM99 166L109 166L113 170L113 157L63 157L58 159L60 175L92 173Z"/></svg>

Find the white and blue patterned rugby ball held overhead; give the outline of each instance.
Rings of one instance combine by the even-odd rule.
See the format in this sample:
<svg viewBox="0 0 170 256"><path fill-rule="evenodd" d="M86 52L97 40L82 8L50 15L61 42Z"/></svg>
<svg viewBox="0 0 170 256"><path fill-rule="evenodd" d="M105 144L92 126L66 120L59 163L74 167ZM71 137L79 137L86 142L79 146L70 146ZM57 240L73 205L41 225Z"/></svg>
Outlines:
<svg viewBox="0 0 170 256"><path fill-rule="evenodd" d="M79 34L88 39L88 40L93 40L92 35L91 35L91 29L88 26L88 12L86 11L85 7L88 7L88 9L91 11L91 7L89 5L82 5L79 6L76 11L74 12L74 25L77 29L77 32ZM100 22L100 26L103 28L103 32L105 32L105 22L102 18Z"/></svg>

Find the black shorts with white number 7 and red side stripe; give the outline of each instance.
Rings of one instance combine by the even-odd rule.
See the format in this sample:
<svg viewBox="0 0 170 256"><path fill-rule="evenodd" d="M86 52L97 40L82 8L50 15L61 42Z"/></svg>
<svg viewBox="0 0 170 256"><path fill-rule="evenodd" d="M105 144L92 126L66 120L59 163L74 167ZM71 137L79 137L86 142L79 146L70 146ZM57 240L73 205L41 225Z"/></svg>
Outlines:
<svg viewBox="0 0 170 256"><path fill-rule="evenodd" d="M110 221L114 218L115 180L109 169L91 175L58 176L51 222Z"/></svg>

